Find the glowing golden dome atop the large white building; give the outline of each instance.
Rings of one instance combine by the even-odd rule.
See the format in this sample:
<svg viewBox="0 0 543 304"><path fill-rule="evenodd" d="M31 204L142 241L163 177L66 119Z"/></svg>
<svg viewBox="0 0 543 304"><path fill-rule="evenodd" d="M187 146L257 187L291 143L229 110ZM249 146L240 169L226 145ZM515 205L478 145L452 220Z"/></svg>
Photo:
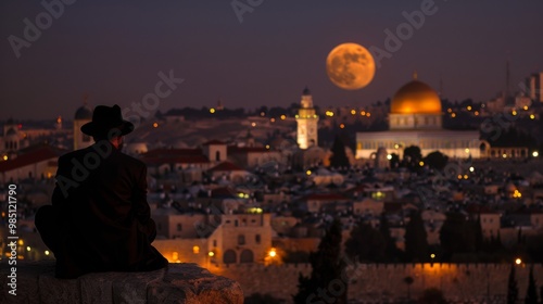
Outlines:
<svg viewBox="0 0 543 304"><path fill-rule="evenodd" d="M441 100L427 84L413 80L404 85L392 98L392 114L441 114Z"/></svg>

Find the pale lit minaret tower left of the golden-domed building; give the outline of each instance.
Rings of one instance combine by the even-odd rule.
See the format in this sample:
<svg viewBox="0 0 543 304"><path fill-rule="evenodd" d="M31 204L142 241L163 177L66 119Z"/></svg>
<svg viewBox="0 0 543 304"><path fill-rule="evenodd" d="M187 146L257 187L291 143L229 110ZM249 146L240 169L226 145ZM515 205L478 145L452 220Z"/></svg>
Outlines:
<svg viewBox="0 0 543 304"><path fill-rule="evenodd" d="M318 115L313 107L313 97L310 89L305 87L302 93L301 107L298 111L298 145L300 149L307 149L318 144L317 123Z"/></svg>

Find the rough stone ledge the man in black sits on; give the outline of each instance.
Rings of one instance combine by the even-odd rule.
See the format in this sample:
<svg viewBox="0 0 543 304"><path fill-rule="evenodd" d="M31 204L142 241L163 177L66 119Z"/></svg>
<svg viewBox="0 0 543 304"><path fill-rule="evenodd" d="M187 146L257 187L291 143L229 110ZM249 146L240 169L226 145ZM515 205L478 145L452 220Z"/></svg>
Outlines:
<svg viewBox="0 0 543 304"><path fill-rule="evenodd" d="M54 261L20 261L16 295L12 295L8 286L11 266L4 262L0 266L0 303L243 303L237 281L188 263L149 273L97 273L61 280L54 278Z"/></svg>

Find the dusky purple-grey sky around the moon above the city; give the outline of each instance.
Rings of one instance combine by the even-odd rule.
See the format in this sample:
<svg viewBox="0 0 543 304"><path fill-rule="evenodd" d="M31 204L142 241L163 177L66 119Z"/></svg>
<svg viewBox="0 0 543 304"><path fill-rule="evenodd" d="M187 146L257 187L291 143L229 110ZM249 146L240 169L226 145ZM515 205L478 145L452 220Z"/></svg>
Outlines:
<svg viewBox="0 0 543 304"><path fill-rule="evenodd" d="M160 100L163 112L219 98L227 107L288 106L306 85L317 105L364 106L391 98L415 69L437 90L441 77L444 98L487 101L505 87L507 58L514 90L543 72L543 1L435 1L354 91L328 79L328 53L342 42L387 51L386 30L432 1L64 1L74 3L34 41L24 20L46 15L41 1L0 2L0 119L72 119L84 93L91 106L128 107L154 92L160 72L185 79ZM237 14L232 3L254 8Z"/></svg>

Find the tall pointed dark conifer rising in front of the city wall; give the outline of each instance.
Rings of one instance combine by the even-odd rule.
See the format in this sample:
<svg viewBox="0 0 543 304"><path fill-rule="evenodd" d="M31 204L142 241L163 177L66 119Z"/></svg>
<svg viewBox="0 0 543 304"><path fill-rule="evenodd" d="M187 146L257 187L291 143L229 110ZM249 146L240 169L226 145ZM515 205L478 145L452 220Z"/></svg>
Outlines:
<svg viewBox="0 0 543 304"><path fill-rule="evenodd" d="M345 279L345 263L341 258L341 223L334 219L318 244L311 253L310 277L300 274L294 303L305 304L316 301L345 304L349 282Z"/></svg>

